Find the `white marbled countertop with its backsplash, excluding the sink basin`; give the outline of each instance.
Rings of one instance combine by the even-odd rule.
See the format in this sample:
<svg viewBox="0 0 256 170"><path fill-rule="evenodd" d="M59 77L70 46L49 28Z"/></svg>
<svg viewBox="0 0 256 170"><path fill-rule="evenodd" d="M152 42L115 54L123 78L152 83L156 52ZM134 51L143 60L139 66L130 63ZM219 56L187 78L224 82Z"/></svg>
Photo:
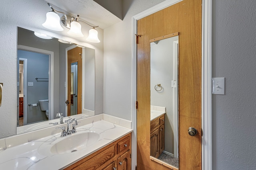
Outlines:
<svg viewBox="0 0 256 170"><path fill-rule="evenodd" d="M132 132L131 121L106 114L79 121L81 123L77 127L77 133L66 137L60 137L61 129L55 129L55 127L66 127L65 123L0 139L0 169L63 169ZM92 145L76 152L64 154L51 152L51 147L57 142L88 132L99 134L96 142L93 142Z"/></svg>

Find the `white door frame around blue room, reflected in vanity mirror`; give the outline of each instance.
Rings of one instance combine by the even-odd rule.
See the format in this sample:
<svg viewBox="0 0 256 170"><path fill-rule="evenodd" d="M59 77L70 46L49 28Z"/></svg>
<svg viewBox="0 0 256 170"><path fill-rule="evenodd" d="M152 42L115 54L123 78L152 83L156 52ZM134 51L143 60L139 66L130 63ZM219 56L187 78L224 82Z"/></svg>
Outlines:
<svg viewBox="0 0 256 170"><path fill-rule="evenodd" d="M38 49L34 47L28 47L25 45L18 45L18 50L25 50L25 51L31 51L35 53L42 53L49 55L49 90L48 90L48 96L49 96L49 118L50 120L54 118L54 52L48 51L44 49ZM25 104L25 103L24 103Z"/></svg>

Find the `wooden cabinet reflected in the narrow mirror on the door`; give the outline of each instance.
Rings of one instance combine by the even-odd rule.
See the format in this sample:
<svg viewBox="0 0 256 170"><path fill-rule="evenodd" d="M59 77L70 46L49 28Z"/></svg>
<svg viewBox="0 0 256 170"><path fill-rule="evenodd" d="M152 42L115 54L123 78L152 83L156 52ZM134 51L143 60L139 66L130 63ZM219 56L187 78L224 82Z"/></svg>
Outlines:
<svg viewBox="0 0 256 170"><path fill-rule="evenodd" d="M158 158L164 151L164 115L150 122L150 156Z"/></svg>

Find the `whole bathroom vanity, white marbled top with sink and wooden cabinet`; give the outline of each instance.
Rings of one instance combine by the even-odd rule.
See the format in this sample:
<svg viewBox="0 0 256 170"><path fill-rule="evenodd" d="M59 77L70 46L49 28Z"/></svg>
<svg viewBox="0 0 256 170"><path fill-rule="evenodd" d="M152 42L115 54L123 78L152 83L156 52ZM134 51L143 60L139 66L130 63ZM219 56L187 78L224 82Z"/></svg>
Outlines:
<svg viewBox="0 0 256 170"><path fill-rule="evenodd" d="M56 127L66 123L0 139L0 169L131 169L131 121L106 114L79 121L65 137Z"/></svg>

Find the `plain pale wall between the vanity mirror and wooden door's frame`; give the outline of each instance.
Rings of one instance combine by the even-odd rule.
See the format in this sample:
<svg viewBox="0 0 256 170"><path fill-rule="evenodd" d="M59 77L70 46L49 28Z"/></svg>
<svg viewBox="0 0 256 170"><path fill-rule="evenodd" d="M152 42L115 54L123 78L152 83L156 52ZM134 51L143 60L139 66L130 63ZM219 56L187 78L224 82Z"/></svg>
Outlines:
<svg viewBox="0 0 256 170"><path fill-rule="evenodd" d="M132 16L164 0L124 0L124 20L104 29L104 110L132 120Z"/></svg>

